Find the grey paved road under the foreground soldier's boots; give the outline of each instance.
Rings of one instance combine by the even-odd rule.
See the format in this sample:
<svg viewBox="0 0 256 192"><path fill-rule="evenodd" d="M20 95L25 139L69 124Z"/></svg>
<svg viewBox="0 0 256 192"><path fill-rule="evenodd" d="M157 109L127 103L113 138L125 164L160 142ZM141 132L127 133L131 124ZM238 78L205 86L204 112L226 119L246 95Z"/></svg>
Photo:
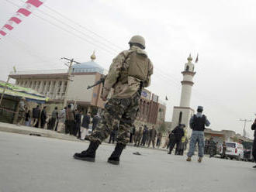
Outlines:
<svg viewBox="0 0 256 192"><path fill-rule="evenodd" d="M106 163L114 146L99 147L95 163L72 158L88 146L29 135L0 132L1 192L71 191L255 191L253 163L185 156L127 147L119 166ZM133 155L140 152L142 156Z"/></svg>

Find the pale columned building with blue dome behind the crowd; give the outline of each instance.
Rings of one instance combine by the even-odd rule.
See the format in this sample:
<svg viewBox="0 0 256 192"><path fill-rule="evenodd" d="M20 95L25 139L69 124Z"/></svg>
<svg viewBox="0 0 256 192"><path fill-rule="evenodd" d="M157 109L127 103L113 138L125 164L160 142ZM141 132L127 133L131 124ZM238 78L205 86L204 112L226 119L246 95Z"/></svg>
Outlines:
<svg viewBox="0 0 256 192"><path fill-rule="evenodd" d="M95 84L106 73L98 63L95 55L92 60L74 64L71 69L71 80L67 91L67 70L26 70L16 71L10 77L16 80L16 85L29 87L40 94L50 98L50 103L62 107L64 97L67 103L73 103L78 109L96 113L99 108L104 107L100 98L102 85L87 89L89 85Z"/></svg>

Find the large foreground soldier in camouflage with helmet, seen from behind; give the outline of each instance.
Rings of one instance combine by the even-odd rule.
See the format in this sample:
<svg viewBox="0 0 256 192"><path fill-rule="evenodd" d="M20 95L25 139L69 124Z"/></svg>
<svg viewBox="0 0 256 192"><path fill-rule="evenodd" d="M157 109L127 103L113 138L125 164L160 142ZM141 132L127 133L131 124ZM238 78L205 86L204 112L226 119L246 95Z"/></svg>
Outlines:
<svg viewBox="0 0 256 192"><path fill-rule="evenodd" d="M91 142L88 149L75 153L75 159L94 162L96 149L112 129L118 128L116 148L108 162L119 164L119 156L129 142L128 132L139 109L140 91L150 85L153 74L153 65L144 51L144 38L133 36L129 44L130 50L119 53L112 61L102 90L102 100L107 100L111 88L114 90L112 97L105 105L99 125L89 136Z"/></svg>

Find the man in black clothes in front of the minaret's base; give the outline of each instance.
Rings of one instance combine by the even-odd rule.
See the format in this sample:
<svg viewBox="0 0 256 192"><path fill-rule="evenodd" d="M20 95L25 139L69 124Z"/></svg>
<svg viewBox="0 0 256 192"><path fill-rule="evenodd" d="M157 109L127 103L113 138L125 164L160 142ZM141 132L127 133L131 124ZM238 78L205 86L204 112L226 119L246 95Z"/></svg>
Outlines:
<svg viewBox="0 0 256 192"><path fill-rule="evenodd" d="M178 152L178 146L180 145L180 142L182 141L182 137L184 136L184 124L179 124L171 131L171 133L174 135L173 138L170 139L170 149L169 153L171 154L172 149L176 145L176 151Z"/></svg>

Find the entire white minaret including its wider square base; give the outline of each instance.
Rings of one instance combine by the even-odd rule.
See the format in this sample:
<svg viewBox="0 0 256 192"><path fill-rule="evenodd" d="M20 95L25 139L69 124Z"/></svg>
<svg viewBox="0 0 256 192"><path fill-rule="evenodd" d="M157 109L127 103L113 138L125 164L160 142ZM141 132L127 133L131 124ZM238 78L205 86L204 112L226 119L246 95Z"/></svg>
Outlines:
<svg viewBox="0 0 256 192"><path fill-rule="evenodd" d="M194 64L192 63L192 57L189 55L188 62L185 63L185 68L182 71L183 81L182 94L179 106L175 106L172 114L171 129L182 123L185 124L188 135L191 135L191 129L189 129L189 119L194 114L194 110L190 108L190 100L192 94L192 86L194 84L193 77L195 75Z"/></svg>

